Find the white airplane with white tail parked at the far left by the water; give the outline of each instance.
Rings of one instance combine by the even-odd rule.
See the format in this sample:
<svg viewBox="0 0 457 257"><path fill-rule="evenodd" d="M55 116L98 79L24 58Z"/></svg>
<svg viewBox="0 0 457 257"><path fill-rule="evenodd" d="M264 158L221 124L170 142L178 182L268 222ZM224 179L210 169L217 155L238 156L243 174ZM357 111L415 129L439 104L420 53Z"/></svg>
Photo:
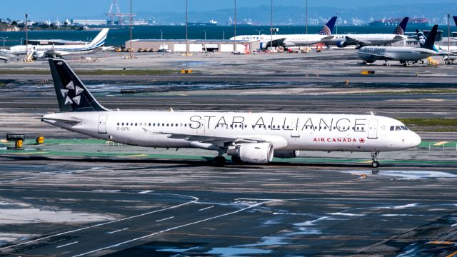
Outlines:
<svg viewBox="0 0 457 257"><path fill-rule="evenodd" d="M34 49L32 54L35 59L46 58L49 56L66 56L69 54L89 54L96 49L100 49L101 46L104 46L106 36L109 29L102 29L100 33L95 37L94 40L89 44L85 45L64 45L64 46L54 46L54 45L19 45L11 46L9 50L5 50L6 54L27 54L27 49Z"/></svg>

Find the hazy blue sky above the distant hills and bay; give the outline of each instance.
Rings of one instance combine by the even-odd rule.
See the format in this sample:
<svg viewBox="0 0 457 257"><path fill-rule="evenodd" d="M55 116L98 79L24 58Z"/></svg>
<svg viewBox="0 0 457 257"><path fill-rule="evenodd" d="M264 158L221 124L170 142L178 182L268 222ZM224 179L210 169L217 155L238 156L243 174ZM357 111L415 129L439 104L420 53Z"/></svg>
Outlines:
<svg viewBox="0 0 457 257"><path fill-rule="evenodd" d="M184 12L185 0L132 0L134 11L176 11ZM278 6L304 6L306 0L273 0ZM443 0L446 1L446 0ZM129 0L118 0L122 12L129 11ZM402 0L406 3L430 3L430 0ZM240 7L261 6L270 4L271 0L237 0ZM324 3L324 4L323 4ZM382 6L396 4L398 0L308 0L308 6L336 6L341 8L353 8L356 6ZM0 18L23 19L28 13L32 19L45 18L101 18L109 10L111 0L4 0L0 9ZM216 9L232 8L231 0L189 0L189 10L209 11Z"/></svg>

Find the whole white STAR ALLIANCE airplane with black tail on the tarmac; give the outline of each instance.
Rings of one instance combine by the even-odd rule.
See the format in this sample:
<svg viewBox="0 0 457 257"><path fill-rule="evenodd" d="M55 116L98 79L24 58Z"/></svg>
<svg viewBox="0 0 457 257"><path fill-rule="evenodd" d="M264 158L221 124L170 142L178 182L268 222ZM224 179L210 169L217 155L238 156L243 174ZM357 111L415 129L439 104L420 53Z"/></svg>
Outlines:
<svg viewBox="0 0 457 257"><path fill-rule="evenodd" d="M110 111L99 104L62 59L49 59L60 112L41 118L48 124L87 136L133 146L201 148L224 154L233 163L269 163L295 158L299 151L371 153L401 151L421 138L395 119L375 115Z"/></svg>

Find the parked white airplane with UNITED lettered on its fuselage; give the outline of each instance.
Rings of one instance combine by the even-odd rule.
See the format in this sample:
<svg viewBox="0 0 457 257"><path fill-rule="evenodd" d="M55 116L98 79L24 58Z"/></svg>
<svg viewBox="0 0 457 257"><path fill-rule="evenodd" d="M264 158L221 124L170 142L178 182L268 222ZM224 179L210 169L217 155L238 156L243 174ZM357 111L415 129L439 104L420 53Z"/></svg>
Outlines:
<svg viewBox="0 0 457 257"><path fill-rule="evenodd" d="M271 46L311 46L321 43L324 39L331 39L333 37L331 31L333 31L335 23L336 17L332 17L318 34L273 35L273 37L271 35L249 35L232 37L230 40L260 41L261 49L268 49Z"/></svg>

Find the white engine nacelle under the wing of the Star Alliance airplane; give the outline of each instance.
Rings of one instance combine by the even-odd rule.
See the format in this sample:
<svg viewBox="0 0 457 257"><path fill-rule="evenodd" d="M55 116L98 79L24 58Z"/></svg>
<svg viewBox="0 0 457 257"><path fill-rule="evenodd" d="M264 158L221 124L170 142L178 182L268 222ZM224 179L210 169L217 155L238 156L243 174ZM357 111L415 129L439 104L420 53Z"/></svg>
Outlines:
<svg viewBox="0 0 457 257"><path fill-rule="evenodd" d="M241 143L227 153L238 156L248 163L269 163L273 161L273 145L271 143Z"/></svg>

